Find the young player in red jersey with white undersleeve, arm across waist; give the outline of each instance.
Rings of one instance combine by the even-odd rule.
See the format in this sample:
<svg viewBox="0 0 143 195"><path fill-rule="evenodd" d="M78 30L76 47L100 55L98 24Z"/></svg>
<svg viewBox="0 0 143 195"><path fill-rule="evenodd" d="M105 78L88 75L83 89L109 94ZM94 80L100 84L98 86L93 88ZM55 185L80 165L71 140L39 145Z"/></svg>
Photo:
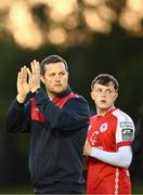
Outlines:
<svg viewBox="0 0 143 195"><path fill-rule="evenodd" d="M131 194L128 167L134 136L132 119L114 106L118 82L101 74L91 83L96 115L91 117L84 156L88 159L87 194Z"/></svg>

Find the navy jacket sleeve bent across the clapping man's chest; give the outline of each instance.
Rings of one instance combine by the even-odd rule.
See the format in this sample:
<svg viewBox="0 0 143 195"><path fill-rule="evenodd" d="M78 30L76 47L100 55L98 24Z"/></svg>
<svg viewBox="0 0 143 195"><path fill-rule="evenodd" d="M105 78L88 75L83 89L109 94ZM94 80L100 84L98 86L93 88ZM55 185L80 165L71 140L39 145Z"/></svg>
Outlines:
<svg viewBox="0 0 143 195"><path fill-rule="evenodd" d="M73 130L89 123L89 106L83 98L70 99L63 108L58 108L50 101L43 91L37 93L35 100L36 105L54 129Z"/></svg>

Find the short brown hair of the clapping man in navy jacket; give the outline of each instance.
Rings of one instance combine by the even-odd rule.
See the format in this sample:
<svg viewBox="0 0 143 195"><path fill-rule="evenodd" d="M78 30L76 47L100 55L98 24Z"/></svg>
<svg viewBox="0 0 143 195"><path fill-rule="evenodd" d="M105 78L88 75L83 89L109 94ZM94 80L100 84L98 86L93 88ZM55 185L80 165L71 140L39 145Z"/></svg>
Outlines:
<svg viewBox="0 0 143 195"><path fill-rule="evenodd" d="M41 64L40 64L41 75L44 75L44 72L46 72L44 67L46 67L46 65L51 64L51 63L58 63L58 62L63 62L64 65L65 65L66 72L68 72L68 65L67 65L66 61L63 57L61 57L60 55L55 55L54 54L54 55L50 55L50 56L46 57L41 62Z"/></svg>

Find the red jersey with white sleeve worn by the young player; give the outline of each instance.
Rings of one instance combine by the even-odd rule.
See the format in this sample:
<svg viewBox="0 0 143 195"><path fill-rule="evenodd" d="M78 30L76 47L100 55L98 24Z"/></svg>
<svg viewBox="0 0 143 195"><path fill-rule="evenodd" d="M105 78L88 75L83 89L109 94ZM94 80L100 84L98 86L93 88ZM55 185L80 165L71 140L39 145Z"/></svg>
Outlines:
<svg viewBox="0 0 143 195"><path fill-rule="evenodd" d="M131 145L133 138L132 119L118 108L90 119L88 141L92 146L117 152L120 146ZM87 194L131 194L129 171L89 157Z"/></svg>

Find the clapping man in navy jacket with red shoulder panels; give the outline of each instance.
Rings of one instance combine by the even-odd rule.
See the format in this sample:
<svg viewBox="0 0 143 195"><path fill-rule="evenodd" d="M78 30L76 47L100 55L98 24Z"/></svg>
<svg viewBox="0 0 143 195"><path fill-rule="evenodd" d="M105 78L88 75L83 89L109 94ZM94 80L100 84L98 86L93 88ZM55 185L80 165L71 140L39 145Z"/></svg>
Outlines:
<svg viewBox="0 0 143 195"><path fill-rule="evenodd" d="M31 70L24 66L18 73L6 129L30 133L29 169L35 193L81 193L88 103L68 87L67 63L61 56L51 55L41 64L32 61L30 66ZM28 93L32 99L25 104Z"/></svg>

